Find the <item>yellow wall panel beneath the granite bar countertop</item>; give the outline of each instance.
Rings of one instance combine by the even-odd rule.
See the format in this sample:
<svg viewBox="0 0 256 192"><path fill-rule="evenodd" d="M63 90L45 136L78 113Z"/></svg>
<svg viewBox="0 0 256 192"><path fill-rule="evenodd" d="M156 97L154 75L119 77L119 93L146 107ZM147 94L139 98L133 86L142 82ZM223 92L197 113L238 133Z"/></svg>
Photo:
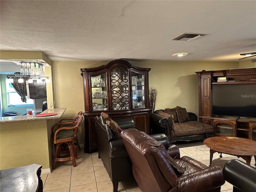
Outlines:
<svg viewBox="0 0 256 192"><path fill-rule="evenodd" d="M46 127L46 120L1 123L0 169L33 163L49 169Z"/></svg>

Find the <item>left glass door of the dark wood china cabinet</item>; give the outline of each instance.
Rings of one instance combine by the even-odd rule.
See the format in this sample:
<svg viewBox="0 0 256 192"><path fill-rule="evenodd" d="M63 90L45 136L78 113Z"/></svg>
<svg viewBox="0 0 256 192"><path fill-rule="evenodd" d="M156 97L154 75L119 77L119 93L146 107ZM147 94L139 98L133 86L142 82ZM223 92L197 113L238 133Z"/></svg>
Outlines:
<svg viewBox="0 0 256 192"><path fill-rule="evenodd" d="M106 73L91 76L92 84L92 110L108 110L108 94L106 86Z"/></svg>

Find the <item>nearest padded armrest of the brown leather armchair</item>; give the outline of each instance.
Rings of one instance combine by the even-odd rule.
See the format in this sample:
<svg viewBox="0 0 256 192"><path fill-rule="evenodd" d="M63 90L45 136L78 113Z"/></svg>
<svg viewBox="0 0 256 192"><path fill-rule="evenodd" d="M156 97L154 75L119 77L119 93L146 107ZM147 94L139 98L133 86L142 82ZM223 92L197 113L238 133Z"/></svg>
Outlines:
<svg viewBox="0 0 256 192"><path fill-rule="evenodd" d="M204 192L218 188L225 183L222 169L218 166L193 172L181 176L176 180L178 191L182 192Z"/></svg>

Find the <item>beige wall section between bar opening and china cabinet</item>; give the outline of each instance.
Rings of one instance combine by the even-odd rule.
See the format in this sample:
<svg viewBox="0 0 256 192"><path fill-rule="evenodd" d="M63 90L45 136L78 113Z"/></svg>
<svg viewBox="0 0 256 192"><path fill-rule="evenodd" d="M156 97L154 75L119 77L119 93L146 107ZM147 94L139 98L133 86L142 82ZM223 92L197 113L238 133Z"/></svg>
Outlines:
<svg viewBox="0 0 256 192"><path fill-rule="evenodd" d="M107 64L108 62L93 61L54 61L54 108L67 108L62 118L72 118L79 111L84 112L84 90L80 68L91 68ZM84 144L84 123L78 129L78 140Z"/></svg>

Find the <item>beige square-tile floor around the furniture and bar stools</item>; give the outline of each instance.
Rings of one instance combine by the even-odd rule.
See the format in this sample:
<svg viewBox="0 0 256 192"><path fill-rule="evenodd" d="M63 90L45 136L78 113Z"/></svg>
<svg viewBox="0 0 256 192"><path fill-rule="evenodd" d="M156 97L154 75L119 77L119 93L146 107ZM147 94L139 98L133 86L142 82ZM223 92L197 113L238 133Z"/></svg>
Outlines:
<svg viewBox="0 0 256 192"><path fill-rule="evenodd" d="M210 150L202 141L176 143L180 149L180 156L190 156L207 166L210 161ZM235 156L214 153L212 165L224 167ZM243 160L239 158L239 160ZM44 192L112 192L112 182L104 168L98 153L87 154L78 152L77 166L73 167L71 161L57 162L56 168L49 174L41 174L44 184ZM251 165L254 166L255 159L252 157ZM222 192L232 192L232 185L225 182L221 186ZM119 182L118 192L141 192L137 183Z"/></svg>

